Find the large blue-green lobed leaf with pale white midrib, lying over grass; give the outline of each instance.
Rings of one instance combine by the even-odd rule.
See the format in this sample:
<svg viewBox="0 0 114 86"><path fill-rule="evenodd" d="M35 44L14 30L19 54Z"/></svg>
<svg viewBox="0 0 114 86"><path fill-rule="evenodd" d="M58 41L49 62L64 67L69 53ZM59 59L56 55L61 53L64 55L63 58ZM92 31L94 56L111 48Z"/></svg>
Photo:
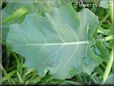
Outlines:
<svg viewBox="0 0 114 86"><path fill-rule="evenodd" d="M49 71L56 79L71 78L81 72L91 74L101 63L90 46L97 25L90 10L76 13L68 5L53 8L45 17L28 14L22 24L10 26L7 43L39 75Z"/></svg>

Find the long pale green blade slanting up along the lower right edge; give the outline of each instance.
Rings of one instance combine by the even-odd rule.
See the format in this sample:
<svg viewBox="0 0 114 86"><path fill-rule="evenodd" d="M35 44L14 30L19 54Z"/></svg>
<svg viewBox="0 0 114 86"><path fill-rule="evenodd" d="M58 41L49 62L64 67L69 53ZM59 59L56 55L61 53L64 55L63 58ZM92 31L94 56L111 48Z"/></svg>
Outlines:
<svg viewBox="0 0 114 86"><path fill-rule="evenodd" d="M104 72L104 75L103 75L103 82L104 83L106 81L106 79L108 78L108 75L110 73L110 70L112 68L112 64L113 64L113 52L114 52L114 46L112 47L112 52L111 52L111 56L110 56L110 59L107 63L107 66L106 66L106 69L105 69L105 72Z"/></svg>

